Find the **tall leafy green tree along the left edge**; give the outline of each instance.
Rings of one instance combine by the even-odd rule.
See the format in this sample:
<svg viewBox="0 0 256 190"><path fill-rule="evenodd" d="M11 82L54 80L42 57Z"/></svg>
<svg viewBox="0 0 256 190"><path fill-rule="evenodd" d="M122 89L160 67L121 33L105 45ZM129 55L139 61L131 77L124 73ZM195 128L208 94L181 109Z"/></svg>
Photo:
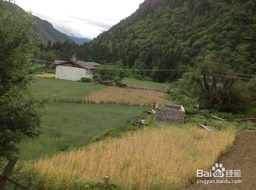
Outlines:
<svg viewBox="0 0 256 190"><path fill-rule="evenodd" d="M18 144L40 133L44 103L29 89L34 80L31 25L31 14L0 11L0 157L4 158L18 153Z"/></svg>

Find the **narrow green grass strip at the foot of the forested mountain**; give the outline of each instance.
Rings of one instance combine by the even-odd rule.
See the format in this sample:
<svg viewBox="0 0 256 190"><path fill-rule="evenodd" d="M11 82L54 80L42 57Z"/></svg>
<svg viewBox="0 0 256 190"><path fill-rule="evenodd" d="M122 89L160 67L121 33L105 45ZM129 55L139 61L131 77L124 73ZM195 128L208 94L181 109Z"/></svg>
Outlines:
<svg viewBox="0 0 256 190"><path fill-rule="evenodd" d="M166 89L163 83L154 83L144 80L137 80L135 78L124 78L123 83L126 83L128 86L139 87L139 88L148 88L148 89Z"/></svg>

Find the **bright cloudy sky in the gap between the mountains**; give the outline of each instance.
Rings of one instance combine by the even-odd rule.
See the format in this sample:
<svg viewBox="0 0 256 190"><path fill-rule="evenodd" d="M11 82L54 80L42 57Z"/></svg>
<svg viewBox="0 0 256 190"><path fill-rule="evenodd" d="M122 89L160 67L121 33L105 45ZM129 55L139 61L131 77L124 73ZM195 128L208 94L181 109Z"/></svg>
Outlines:
<svg viewBox="0 0 256 190"><path fill-rule="evenodd" d="M76 37L95 38L130 16L144 0L15 0L55 29Z"/></svg>

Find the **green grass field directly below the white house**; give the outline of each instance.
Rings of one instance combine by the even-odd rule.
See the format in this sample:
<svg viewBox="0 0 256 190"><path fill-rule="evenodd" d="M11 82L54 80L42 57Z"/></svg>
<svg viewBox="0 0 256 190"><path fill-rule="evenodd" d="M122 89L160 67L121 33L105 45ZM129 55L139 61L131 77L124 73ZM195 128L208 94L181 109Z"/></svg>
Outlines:
<svg viewBox="0 0 256 190"><path fill-rule="evenodd" d="M55 78L37 78L36 83L31 84L35 96L42 97L55 97L58 98L73 98L82 99L84 96L92 94L95 91L105 88L102 85L94 83L80 83L70 80L61 80Z"/></svg>

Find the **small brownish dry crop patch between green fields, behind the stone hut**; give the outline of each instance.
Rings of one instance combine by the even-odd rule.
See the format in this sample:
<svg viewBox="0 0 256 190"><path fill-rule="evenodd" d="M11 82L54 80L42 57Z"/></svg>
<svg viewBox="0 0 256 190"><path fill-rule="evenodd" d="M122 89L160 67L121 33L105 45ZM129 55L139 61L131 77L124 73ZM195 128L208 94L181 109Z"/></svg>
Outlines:
<svg viewBox="0 0 256 190"><path fill-rule="evenodd" d="M168 102L167 97L167 94L158 91L109 87L97 91L85 97L85 99L93 100L95 102L129 102L131 104L138 103L140 105L144 105L155 104L157 101Z"/></svg>

